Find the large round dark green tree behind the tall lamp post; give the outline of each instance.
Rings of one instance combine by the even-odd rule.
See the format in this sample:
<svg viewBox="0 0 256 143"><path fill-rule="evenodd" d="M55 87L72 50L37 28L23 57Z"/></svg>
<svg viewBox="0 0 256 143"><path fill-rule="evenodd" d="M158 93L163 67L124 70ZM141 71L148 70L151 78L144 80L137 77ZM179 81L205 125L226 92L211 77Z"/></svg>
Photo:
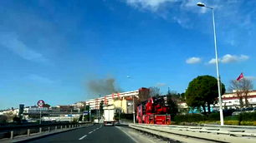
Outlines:
<svg viewBox="0 0 256 143"><path fill-rule="evenodd" d="M222 85L222 93L225 93L225 86ZM197 76L197 78L190 81L187 91L185 93L187 106L202 107L206 114L206 106L208 113L211 112L210 105L217 103L218 99L218 81L213 76Z"/></svg>

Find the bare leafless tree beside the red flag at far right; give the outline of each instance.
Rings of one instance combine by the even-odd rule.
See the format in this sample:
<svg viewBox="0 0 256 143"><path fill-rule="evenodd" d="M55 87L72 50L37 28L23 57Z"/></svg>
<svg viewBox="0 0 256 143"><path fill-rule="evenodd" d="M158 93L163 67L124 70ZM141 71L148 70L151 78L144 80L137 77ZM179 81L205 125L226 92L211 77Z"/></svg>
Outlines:
<svg viewBox="0 0 256 143"><path fill-rule="evenodd" d="M244 78L237 81L232 80L230 81L229 90L235 91L238 98L240 107L243 108L243 98L245 100L245 106L248 106L248 92L253 89L253 82L248 78Z"/></svg>

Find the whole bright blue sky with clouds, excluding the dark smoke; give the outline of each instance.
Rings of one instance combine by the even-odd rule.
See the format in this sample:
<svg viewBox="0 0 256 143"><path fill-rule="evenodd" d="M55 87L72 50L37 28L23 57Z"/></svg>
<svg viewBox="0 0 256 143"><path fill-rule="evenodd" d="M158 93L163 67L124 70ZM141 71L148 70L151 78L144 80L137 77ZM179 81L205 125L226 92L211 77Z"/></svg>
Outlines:
<svg viewBox="0 0 256 143"><path fill-rule="evenodd" d="M91 80L165 94L184 92L197 76L216 77L212 11L197 2L214 8L226 88L241 72L256 86L256 1L2 0L0 109L97 97Z"/></svg>

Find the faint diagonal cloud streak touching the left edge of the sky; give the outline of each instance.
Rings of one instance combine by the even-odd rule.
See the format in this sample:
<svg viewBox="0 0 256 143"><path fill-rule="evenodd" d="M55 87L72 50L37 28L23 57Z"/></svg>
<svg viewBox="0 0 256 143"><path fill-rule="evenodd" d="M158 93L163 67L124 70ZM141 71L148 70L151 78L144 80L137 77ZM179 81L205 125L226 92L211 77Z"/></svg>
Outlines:
<svg viewBox="0 0 256 143"><path fill-rule="evenodd" d="M27 45L20 41L18 36L13 32L0 33L0 45L8 48L9 51L25 60L32 62L49 62L41 53L35 52L27 47Z"/></svg>

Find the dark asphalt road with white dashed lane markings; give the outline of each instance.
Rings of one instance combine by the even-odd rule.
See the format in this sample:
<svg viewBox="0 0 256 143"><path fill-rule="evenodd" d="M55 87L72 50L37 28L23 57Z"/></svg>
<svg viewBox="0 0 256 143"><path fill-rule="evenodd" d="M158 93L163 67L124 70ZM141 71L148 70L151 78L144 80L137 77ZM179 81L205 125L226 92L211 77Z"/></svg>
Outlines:
<svg viewBox="0 0 256 143"><path fill-rule="evenodd" d="M98 124L26 142L134 143L135 141L129 136L126 136L123 131L120 131L115 126L103 126L102 124Z"/></svg>

